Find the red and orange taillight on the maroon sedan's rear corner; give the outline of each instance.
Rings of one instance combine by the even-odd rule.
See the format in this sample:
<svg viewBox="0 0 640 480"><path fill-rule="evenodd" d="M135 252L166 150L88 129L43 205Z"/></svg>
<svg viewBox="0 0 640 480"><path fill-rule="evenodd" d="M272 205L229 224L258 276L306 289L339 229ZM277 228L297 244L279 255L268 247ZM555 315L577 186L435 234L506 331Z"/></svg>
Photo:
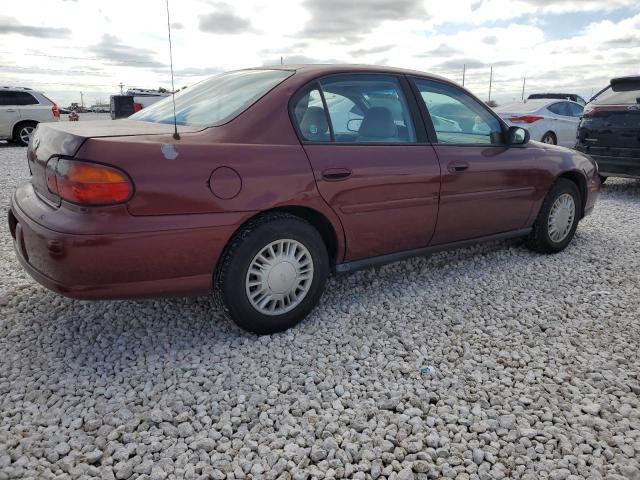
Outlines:
<svg viewBox="0 0 640 480"><path fill-rule="evenodd" d="M122 203L133 193L129 177L116 168L62 158L47 164L47 186L63 200L82 205Z"/></svg>

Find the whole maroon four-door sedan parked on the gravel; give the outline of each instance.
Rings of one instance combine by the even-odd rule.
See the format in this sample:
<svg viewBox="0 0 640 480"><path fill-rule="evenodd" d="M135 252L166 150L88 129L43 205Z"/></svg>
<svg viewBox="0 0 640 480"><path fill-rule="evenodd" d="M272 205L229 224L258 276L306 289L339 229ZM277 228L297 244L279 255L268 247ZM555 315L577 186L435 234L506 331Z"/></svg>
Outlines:
<svg viewBox="0 0 640 480"><path fill-rule="evenodd" d="M174 120L179 135L174 135ZM595 163L529 142L421 72L224 73L126 120L40 124L9 212L41 284L73 298L215 290L257 333L348 272L481 240L554 253L594 207Z"/></svg>

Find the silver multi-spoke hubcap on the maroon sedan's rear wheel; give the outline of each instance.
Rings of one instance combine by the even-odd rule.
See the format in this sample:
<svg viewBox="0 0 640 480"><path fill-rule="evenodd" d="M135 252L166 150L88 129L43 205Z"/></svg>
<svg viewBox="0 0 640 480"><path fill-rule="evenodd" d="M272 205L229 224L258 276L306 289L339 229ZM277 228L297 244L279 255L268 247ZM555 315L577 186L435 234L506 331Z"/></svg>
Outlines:
<svg viewBox="0 0 640 480"><path fill-rule="evenodd" d="M296 240L276 240L253 258L245 281L253 308L265 315L282 315L297 307L313 281L313 259Z"/></svg>

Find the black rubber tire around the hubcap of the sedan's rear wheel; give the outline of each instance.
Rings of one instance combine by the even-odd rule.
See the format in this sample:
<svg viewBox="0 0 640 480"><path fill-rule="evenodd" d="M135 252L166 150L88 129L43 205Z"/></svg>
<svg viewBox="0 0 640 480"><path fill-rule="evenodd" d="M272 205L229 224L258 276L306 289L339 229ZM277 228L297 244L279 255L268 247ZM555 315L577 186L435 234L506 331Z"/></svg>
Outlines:
<svg viewBox="0 0 640 480"><path fill-rule="evenodd" d="M313 262L311 285L300 303L280 315L266 315L251 304L245 282L255 256L271 242L300 242ZM329 255L320 233L307 221L287 213L269 213L238 231L222 254L214 274L214 289L231 319L259 335L281 332L300 323L317 305L329 274Z"/></svg>

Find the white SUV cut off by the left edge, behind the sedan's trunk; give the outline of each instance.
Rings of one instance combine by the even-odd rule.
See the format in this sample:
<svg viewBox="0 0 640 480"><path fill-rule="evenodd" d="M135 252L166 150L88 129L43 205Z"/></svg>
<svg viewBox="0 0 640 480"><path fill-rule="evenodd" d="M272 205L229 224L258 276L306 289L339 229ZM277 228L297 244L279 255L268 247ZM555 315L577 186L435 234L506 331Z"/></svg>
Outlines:
<svg viewBox="0 0 640 480"><path fill-rule="evenodd" d="M40 122L60 119L58 105L30 88L0 87L0 140L26 146Z"/></svg>

